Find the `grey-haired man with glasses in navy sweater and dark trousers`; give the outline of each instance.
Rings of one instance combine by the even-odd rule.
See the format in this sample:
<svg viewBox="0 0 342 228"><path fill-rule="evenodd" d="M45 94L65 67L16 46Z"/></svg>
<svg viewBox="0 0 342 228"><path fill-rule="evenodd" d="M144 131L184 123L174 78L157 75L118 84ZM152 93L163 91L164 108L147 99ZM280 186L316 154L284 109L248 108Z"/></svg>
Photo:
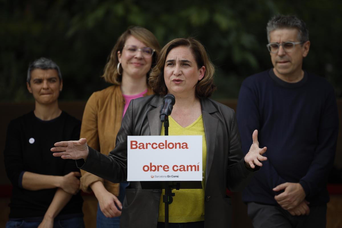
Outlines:
<svg viewBox="0 0 342 228"><path fill-rule="evenodd" d="M263 168L242 200L253 226L325 227L338 112L332 86L302 69L310 48L305 23L279 15L267 23L273 68L248 77L241 86L237 120L242 150L259 131L267 147Z"/></svg>

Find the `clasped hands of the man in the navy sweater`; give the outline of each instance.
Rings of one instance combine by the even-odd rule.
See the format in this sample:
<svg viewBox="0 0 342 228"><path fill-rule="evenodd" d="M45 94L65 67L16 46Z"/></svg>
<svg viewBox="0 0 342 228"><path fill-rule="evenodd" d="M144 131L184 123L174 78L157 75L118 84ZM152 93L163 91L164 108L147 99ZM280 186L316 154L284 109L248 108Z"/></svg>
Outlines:
<svg viewBox="0 0 342 228"><path fill-rule="evenodd" d="M273 191L284 192L275 196L274 199L285 210L292 210L305 199L305 192L301 184L286 182L273 188Z"/></svg>

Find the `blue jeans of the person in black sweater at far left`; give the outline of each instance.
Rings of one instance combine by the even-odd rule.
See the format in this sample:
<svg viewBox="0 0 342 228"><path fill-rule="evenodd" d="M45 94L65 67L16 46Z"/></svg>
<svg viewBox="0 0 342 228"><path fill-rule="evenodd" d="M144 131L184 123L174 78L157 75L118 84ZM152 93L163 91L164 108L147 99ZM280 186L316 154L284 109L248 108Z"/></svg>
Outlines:
<svg viewBox="0 0 342 228"><path fill-rule="evenodd" d="M24 220L10 219L6 223L6 228L37 228L41 222L29 222ZM54 228L84 228L82 217L69 219L55 219L53 222Z"/></svg>

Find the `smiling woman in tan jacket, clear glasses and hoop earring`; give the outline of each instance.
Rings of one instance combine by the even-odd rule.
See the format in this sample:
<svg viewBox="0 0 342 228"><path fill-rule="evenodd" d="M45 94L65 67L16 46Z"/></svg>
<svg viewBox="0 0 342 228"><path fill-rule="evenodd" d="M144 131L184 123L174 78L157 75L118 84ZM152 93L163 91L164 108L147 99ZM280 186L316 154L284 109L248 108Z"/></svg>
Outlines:
<svg viewBox="0 0 342 228"><path fill-rule="evenodd" d="M156 37L142 27L130 27L119 37L108 57L103 78L114 85L93 93L84 109L80 137L108 155L131 99L152 94L147 81L160 47ZM95 167L101 163L94 164ZM119 227L121 203L128 183L120 184L82 170L81 189L93 191L97 200L96 226ZM118 182L116 182L118 183Z"/></svg>

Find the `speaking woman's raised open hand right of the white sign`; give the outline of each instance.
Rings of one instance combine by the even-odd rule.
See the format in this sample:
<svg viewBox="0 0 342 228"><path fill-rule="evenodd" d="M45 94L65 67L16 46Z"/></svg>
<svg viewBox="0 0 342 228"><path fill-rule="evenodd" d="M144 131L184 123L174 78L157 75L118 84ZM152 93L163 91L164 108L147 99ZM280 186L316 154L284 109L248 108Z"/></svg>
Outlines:
<svg viewBox="0 0 342 228"><path fill-rule="evenodd" d="M262 156L263 153L266 152L267 148L259 148L259 142L258 142L258 130L254 130L252 134L253 138L253 144L251 145L251 148L249 149L247 155L245 156L245 164L247 166L250 166L252 169L255 168L255 165L262 166L262 163L260 161L266 161L267 158Z"/></svg>

